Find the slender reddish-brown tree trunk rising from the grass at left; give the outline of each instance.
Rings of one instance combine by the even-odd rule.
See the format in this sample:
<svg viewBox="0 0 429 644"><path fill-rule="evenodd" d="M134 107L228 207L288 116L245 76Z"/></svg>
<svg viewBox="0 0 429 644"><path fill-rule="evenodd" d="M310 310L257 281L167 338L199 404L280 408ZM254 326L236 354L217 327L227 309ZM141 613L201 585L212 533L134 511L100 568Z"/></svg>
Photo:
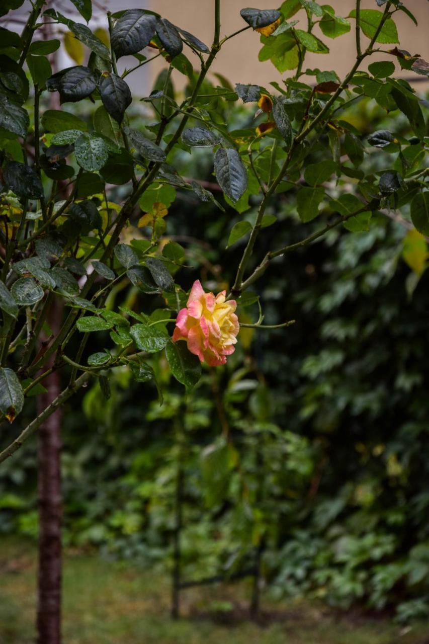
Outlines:
<svg viewBox="0 0 429 644"><path fill-rule="evenodd" d="M48 323L57 334L61 325L62 304L54 301ZM53 365L53 357L46 368ZM60 393L59 374L50 374L39 397L39 412ZM37 644L61 643L61 409L54 412L39 429L38 503L39 573L37 578Z"/></svg>

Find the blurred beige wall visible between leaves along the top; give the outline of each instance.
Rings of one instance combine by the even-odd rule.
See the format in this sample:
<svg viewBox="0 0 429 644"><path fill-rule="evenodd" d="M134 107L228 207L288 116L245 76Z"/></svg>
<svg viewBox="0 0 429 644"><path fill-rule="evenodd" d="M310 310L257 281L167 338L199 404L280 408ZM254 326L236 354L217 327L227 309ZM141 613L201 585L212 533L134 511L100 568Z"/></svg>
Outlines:
<svg viewBox="0 0 429 644"><path fill-rule="evenodd" d="M356 6L355 0L325 0L336 10L337 15L346 17L350 11ZM149 0L148 8L160 13L163 17L167 17L172 23L186 29L191 33L195 33L206 44L211 44L213 39L213 0ZM251 6L258 6L258 8L273 8L278 4L274 0L254 0L250 3ZM403 12L397 12L395 15L395 22L399 34L399 41L401 48L408 50L410 53L419 53L426 61L429 60L429 39L428 39L428 24L429 24L429 3L428 0L406 0L405 5L412 10L419 22L419 26L415 24ZM242 26L245 22L240 17L240 9L243 6L248 6L245 0L222 0L222 36L232 33ZM377 8L375 0L362 0L362 8ZM300 18L302 28L306 28L305 13L301 11L294 16L293 19ZM305 59L308 68L318 67L321 70L336 70L339 77L343 77L352 66L354 57L356 56L355 41L354 41L354 19L350 19L352 30L349 33L337 38L330 39L325 37L318 26L314 28L314 35L323 39L329 46L329 54L315 54L308 53ZM301 26L301 25L299 25ZM362 43L368 43L368 39L363 36ZM394 47L394 45L382 46L386 49ZM259 41L259 34L252 31L240 33L240 35L225 43L222 51L218 55L218 59L213 64L213 71L218 71L224 74L233 84L236 82L242 83L256 83L267 85L270 81L280 81L291 72L286 72L284 75L278 73L276 68L270 61L258 61L258 52L261 48ZM189 48L187 55L195 65L198 66L198 59ZM371 58L371 61L386 59L386 55L378 54ZM396 62L394 57L390 57L393 62ZM158 62L158 61L155 61ZM365 64L362 65L365 69ZM417 76L413 72L403 71L397 65L397 75L414 77ZM152 64L151 74L155 74L160 70L160 66L155 68L155 63ZM177 83L179 84L180 75L176 74ZM419 83L416 86L423 89L423 85L427 87L426 83Z"/></svg>

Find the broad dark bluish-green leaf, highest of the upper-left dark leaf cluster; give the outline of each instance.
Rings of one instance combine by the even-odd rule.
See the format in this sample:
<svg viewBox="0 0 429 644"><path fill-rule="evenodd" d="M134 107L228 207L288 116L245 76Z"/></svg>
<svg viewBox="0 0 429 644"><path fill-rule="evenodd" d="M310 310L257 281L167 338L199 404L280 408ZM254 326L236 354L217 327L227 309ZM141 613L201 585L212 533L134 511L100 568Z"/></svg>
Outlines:
<svg viewBox="0 0 429 644"><path fill-rule="evenodd" d="M115 22L111 33L111 46L117 58L140 52L155 34L157 21L154 15L142 9L130 9Z"/></svg>

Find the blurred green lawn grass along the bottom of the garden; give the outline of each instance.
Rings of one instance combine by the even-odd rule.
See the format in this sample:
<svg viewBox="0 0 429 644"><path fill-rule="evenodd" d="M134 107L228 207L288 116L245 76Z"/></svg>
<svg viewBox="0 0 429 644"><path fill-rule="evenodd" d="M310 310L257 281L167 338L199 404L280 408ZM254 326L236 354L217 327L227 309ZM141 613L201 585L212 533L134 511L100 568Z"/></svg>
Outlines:
<svg viewBox="0 0 429 644"><path fill-rule="evenodd" d="M0 542L0 644L34 641L35 551ZM429 644L427 625L341 616L308 603L270 604L262 626L246 619L249 587L182 594L184 618L169 618L165 575L98 556L64 557L64 644ZM210 609L230 602L224 618ZM223 623L223 621L229 623ZM426 635L425 635L426 633Z"/></svg>

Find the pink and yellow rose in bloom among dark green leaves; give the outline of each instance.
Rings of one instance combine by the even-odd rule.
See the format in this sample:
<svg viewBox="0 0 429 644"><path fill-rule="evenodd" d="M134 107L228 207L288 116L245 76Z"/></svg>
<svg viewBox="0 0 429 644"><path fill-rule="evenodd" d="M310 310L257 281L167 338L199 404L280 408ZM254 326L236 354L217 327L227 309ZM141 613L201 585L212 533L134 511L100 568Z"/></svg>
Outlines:
<svg viewBox="0 0 429 644"><path fill-rule="evenodd" d="M178 312L173 341L186 340L187 348L209 366L225 365L227 355L235 350L240 330L237 307L226 301L226 291L218 295L205 293L197 279L193 283L186 308Z"/></svg>

